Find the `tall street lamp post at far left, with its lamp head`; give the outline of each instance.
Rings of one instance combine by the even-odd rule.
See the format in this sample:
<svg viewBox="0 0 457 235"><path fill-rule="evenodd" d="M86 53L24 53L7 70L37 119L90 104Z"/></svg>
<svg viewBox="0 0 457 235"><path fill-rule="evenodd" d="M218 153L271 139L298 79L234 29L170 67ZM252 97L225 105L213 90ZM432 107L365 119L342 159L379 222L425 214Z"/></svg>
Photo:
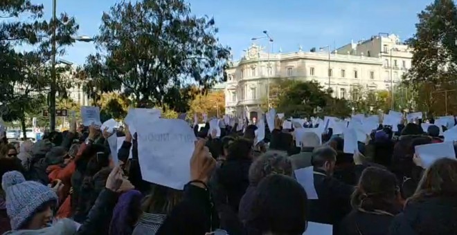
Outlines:
<svg viewBox="0 0 457 235"><path fill-rule="evenodd" d="M55 34L57 30L57 0L53 0L53 36L51 38L51 92L49 93L49 116L50 116L50 129L51 131L55 131L55 93L56 93L56 75L55 75L55 54L57 54L57 42L55 41ZM75 41L84 41L89 42L93 41L91 37L87 36L80 36L80 37L73 37Z"/></svg>

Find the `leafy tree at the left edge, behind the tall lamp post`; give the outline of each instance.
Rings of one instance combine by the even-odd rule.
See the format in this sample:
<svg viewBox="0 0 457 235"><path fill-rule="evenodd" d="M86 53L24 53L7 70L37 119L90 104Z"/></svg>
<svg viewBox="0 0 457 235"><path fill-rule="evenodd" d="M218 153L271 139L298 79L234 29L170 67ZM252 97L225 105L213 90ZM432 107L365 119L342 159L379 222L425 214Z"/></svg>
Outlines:
<svg viewBox="0 0 457 235"><path fill-rule="evenodd" d="M0 98L8 106L3 113L5 120L20 120L25 135L27 113L34 113L46 100L51 84L51 42L55 39L56 54L63 55L66 46L73 43L73 35L79 26L73 17L60 15L56 21L42 19L43 6L29 0L6 0L0 4L0 15L6 20L0 23L0 68L2 68ZM52 37L53 27L56 37ZM31 46L29 51L19 52L17 46ZM69 66L59 66L57 91L66 95L70 80L66 75Z"/></svg>

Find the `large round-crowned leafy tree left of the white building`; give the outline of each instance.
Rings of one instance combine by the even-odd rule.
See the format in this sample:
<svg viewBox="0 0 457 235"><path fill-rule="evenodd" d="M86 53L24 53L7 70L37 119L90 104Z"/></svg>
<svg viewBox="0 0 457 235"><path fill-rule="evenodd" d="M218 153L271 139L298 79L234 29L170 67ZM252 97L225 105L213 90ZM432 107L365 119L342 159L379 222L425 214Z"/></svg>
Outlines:
<svg viewBox="0 0 457 235"><path fill-rule="evenodd" d="M186 111L195 93L223 81L229 48L219 44L214 19L195 17L183 0L122 1L102 16L87 57L87 90L121 91L136 106Z"/></svg>

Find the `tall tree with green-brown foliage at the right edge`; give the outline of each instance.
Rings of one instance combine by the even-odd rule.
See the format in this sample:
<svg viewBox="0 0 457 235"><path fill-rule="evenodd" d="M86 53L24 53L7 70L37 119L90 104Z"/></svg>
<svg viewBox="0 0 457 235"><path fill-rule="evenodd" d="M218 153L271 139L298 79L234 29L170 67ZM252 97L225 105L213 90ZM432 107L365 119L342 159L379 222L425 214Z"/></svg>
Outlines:
<svg viewBox="0 0 457 235"><path fill-rule="evenodd" d="M453 99L456 93L449 92L445 97L444 92L456 88L453 84L457 76L456 16L454 1L433 1L418 14L416 32L407 41L414 54L404 82L411 88L411 95L420 94L413 97L418 109L431 115L444 115L446 108L457 109Z"/></svg>

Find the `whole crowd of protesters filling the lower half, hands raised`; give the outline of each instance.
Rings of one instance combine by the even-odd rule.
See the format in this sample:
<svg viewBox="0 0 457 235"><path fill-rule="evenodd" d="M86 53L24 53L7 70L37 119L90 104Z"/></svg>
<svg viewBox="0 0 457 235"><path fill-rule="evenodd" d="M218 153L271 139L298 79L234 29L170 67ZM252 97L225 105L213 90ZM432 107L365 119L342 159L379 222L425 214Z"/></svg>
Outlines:
<svg viewBox="0 0 457 235"><path fill-rule="evenodd" d="M143 180L128 126L109 133L73 122L20 147L3 139L0 234L301 235L311 222L336 235L457 234L457 160L424 167L415 153L442 142L438 126L424 133L415 123L398 132L379 125L348 154L331 128L305 133L296 147L282 122L276 117L256 144L254 124L226 125L219 137L209 123L195 125L182 191ZM110 135L125 136L118 164ZM305 167L313 167L318 199L296 180Z"/></svg>

